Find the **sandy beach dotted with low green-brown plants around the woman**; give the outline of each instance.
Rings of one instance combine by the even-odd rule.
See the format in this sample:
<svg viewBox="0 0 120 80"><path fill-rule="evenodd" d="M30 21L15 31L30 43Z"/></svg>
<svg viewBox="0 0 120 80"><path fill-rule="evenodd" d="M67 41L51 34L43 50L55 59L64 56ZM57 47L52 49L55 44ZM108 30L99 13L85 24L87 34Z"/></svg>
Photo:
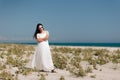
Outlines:
<svg viewBox="0 0 120 80"><path fill-rule="evenodd" d="M50 46L57 73L31 68L36 46L0 44L0 80L119 80L119 47Z"/></svg>

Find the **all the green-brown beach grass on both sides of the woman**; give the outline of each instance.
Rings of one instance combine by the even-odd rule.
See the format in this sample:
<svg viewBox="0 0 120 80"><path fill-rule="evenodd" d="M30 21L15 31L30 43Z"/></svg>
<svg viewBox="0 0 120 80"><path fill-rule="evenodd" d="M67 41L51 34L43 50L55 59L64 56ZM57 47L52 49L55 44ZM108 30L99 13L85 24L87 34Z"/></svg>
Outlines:
<svg viewBox="0 0 120 80"><path fill-rule="evenodd" d="M35 46L22 44L0 44L0 79L18 80L18 75L40 74L39 80L46 80L45 75L38 70L27 68L26 64L33 56ZM51 46L54 66L57 69L69 71L73 76L85 77L97 70L97 66L107 63L120 63L120 50ZM14 71L11 71L14 69ZM117 69L117 67L113 67ZM100 70L102 71L102 69ZM91 78L96 78L91 75ZM65 80L64 75L60 80Z"/></svg>

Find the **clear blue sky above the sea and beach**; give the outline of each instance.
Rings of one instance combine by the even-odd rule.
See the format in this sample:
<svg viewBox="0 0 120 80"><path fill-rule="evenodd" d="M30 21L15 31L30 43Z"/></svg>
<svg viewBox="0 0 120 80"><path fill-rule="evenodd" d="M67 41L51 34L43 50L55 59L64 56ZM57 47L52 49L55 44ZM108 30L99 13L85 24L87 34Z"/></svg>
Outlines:
<svg viewBox="0 0 120 80"><path fill-rule="evenodd" d="M120 0L0 0L0 42L35 41L38 23L49 42L120 43Z"/></svg>

